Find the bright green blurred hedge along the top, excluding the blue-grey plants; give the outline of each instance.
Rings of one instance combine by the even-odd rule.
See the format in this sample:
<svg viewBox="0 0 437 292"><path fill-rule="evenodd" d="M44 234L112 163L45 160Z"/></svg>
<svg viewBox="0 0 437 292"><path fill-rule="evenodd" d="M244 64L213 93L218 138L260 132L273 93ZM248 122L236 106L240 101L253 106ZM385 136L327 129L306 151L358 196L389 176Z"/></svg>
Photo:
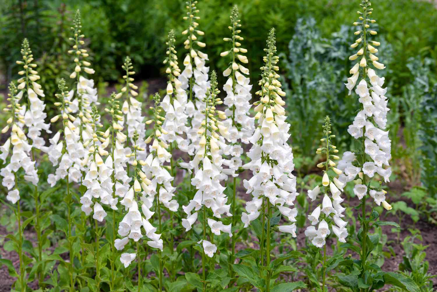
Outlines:
<svg viewBox="0 0 437 292"><path fill-rule="evenodd" d="M294 35L298 18L313 17L321 37L329 37L342 24L350 25L357 19L354 11L358 2L242 0L236 3L241 11L241 35L245 38L243 45L249 50L247 55L253 78L257 80L259 74L269 28L274 26L277 30L278 52L288 53L288 42ZM19 3L24 3L24 30ZM35 3L38 4L36 7ZM63 10L62 3L66 4L65 13L59 12ZM207 44L205 52L210 57L212 69L219 71L223 70L225 61L218 53L224 49L222 38L229 35L229 12L234 3L230 0L200 0L198 3L201 11L199 28L205 31L202 41ZM54 46L66 44L69 22L76 8L82 11L83 31L90 41L94 67L101 80L117 80L126 55L132 57L135 69L142 77L158 76L162 70L167 32L171 28L180 32L186 26L182 20L183 0L5 0L0 5L3 24L0 59L9 76L15 76L12 62L19 55L19 44L24 36L30 39L36 56L42 56L43 52L59 52ZM437 56L437 13L427 1L381 0L374 3L374 8L379 33L393 47L388 79L393 79L393 90L400 94L402 84L411 78L405 66L407 60L417 55ZM182 54L180 34L177 41Z"/></svg>

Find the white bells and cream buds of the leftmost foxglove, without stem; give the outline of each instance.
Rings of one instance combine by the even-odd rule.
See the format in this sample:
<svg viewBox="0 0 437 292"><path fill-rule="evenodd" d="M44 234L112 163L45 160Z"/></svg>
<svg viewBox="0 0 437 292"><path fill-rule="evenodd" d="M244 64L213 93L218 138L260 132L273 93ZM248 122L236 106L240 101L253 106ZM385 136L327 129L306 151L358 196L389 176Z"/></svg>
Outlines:
<svg viewBox="0 0 437 292"><path fill-rule="evenodd" d="M9 190L6 199L15 204L20 199L20 191L18 188L14 188L18 183L16 181L17 171L22 167L24 170L24 180L30 181L34 185L38 184L38 174L35 169L35 161L32 161L30 154L32 145L29 145L28 137L23 130L26 107L19 104L23 91L17 94L17 86L11 82L9 92L7 101L10 104L7 108L3 108L3 111L10 112L11 116L7 119L7 125L1 132L4 134L11 129L11 133L10 138L0 146L0 159L6 163L6 166L0 169L0 176L3 177L2 185ZM10 161L7 163L11 145L12 155L10 155Z"/></svg>

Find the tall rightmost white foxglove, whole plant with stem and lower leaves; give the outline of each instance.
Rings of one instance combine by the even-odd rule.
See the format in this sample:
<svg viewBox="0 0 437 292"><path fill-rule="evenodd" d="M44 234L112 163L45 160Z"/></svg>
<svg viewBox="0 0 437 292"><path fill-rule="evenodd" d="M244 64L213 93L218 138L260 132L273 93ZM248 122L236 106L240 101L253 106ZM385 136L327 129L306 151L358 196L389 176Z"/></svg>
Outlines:
<svg viewBox="0 0 437 292"><path fill-rule="evenodd" d="M352 76L345 83L349 94L355 88L355 93L359 96L358 101L361 103L360 111L348 129L350 135L357 139L359 148L354 152L344 153L342 160L338 163L338 169L344 172L339 177L342 183L355 181L354 194L361 200L361 216L359 216L361 228L355 240L360 247L354 247L354 250L360 251L360 261L354 267L352 276L354 279L351 279L351 282L359 280L359 289L354 291L367 292L381 288L387 276L395 277L401 282L404 279L400 279L402 277L400 274L390 273L388 275L380 270L375 271L373 261L372 263L368 261L374 242L378 242L378 238L375 241L377 235L369 236L371 227L399 225L395 222L377 221L379 214L374 209L375 205L382 205L387 210L392 209L392 206L385 201L386 191L382 189L382 181L379 181L379 184L372 183L375 174L379 174L385 182L389 182L392 173L391 168L388 167L388 160L391 158L391 141L388 138L388 131L384 131L389 109L387 97L385 97L387 88L382 88L384 77L380 78L375 71L375 69L382 70L385 66L379 63L378 57L375 56L378 52L375 46L380 43L373 39L377 32L370 28L370 25L376 22L370 19L373 8L369 0L361 1L360 6L362 11L357 11L359 21L354 22L354 25L359 27L355 31L355 35L359 35L359 38L351 45L351 48L356 48L358 51L349 57L350 60L358 59L359 62L350 69ZM356 85L358 80L360 81ZM374 201L371 205L370 217L366 216L368 195Z"/></svg>

